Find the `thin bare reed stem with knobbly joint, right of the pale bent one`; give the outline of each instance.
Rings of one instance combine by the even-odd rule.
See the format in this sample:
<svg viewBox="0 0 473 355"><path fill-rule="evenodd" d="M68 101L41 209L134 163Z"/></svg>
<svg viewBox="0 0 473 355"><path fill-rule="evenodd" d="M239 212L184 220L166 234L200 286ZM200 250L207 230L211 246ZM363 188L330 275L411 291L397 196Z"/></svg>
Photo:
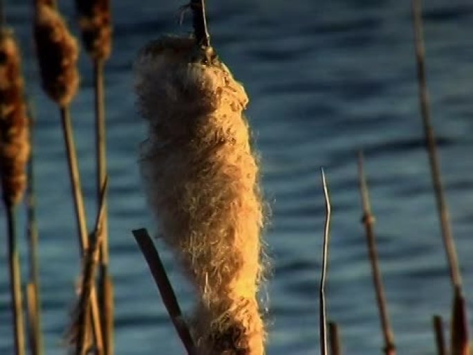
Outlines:
<svg viewBox="0 0 473 355"><path fill-rule="evenodd" d="M367 244L369 252L369 260L371 262L371 275L373 277L373 284L375 286L376 302L378 303L378 311L380 313L380 321L382 327L382 334L384 337L384 354L396 354L396 345L394 345L394 336L389 324L389 316L387 312L387 301L384 295L384 288L382 286L381 271L379 266L378 251L376 250L376 242L374 235L375 217L371 213L371 203L369 200L369 191L367 179L364 174L363 153L358 154L358 181L360 186L360 196L362 199L363 217L362 224L364 224L367 235Z"/></svg>

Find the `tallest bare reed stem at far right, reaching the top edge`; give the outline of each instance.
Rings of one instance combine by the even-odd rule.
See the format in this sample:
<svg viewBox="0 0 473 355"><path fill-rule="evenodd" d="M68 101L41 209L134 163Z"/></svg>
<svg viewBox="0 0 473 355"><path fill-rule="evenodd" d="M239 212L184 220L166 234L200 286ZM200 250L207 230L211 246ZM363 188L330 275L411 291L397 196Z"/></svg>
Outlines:
<svg viewBox="0 0 473 355"><path fill-rule="evenodd" d="M425 145L429 154L430 172L434 184L436 205L438 217L440 219L440 228L442 230L443 244L447 253L447 262L449 264L450 279L452 286L461 286L461 273L456 256L456 248L452 235L452 228L449 222L449 212L445 193L443 191L440 178L440 163L436 149L436 139L434 128L432 127L429 109L429 93L427 91L427 80L425 75L425 48L423 39L422 10L420 0L412 0L412 17L414 21L414 42L416 47L416 66L418 95L420 104L420 114L423 120Z"/></svg>

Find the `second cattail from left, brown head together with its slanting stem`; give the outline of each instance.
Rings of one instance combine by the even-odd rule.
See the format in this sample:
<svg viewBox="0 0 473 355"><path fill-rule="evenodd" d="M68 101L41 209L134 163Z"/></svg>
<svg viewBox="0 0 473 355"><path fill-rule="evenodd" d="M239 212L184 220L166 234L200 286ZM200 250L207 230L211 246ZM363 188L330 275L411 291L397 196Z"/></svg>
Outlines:
<svg viewBox="0 0 473 355"><path fill-rule="evenodd" d="M61 113L77 235L82 258L84 257L84 251L89 248L89 240L73 129L68 111L69 104L77 93L80 80L76 65L78 47L75 38L68 31L64 19L57 11L54 1L35 0L35 41L44 90L57 103ZM98 354L102 354L102 329L95 287L91 290L91 318L95 346Z"/></svg>

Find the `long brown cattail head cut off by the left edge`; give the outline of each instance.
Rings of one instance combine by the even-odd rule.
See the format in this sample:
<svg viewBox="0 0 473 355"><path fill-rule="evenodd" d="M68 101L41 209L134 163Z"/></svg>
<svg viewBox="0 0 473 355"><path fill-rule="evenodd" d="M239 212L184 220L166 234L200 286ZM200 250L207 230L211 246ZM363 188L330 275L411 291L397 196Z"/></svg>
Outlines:
<svg viewBox="0 0 473 355"><path fill-rule="evenodd" d="M26 186L30 153L21 57L11 33L0 34L0 174L3 198L15 205Z"/></svg>

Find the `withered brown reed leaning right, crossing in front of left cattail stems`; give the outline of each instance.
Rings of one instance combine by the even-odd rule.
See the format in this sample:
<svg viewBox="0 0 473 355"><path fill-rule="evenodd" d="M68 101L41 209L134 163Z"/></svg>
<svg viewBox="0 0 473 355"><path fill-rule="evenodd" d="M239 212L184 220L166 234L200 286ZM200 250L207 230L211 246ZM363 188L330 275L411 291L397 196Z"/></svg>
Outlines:
<svg viewBox="0 0 473 355"><path fill-rule="evenodd" d="M89 322L87 315L90 314L91 309L91 290L95 281L95 268L99 260L100 245L104 240L104 233L102 231L105 215L105 197L106 197L106 179L102 185L100 192L100 207L98 209L97 218L95 220L95 228L92 234L91 246L86 251L84 257L84 272L82 275L82 288L80 299L77 304L77 340L76 340L76 354L85 355L86 349L86 334Z"/></svg>

